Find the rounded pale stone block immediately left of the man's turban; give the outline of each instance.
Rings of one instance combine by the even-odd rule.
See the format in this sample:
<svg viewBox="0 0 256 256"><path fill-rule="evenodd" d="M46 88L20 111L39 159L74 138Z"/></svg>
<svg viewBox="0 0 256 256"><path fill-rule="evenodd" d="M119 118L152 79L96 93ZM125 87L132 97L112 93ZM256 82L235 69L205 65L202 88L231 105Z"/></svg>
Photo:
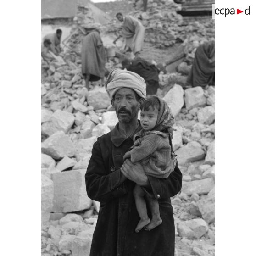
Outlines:
<svg viewBox="0 0 256 256"><path fill-rule="evenodd" d="M93 106L94 110L107 108L110 98L104 87L97 87L88 92L87 102L89 106Z"/></svg>

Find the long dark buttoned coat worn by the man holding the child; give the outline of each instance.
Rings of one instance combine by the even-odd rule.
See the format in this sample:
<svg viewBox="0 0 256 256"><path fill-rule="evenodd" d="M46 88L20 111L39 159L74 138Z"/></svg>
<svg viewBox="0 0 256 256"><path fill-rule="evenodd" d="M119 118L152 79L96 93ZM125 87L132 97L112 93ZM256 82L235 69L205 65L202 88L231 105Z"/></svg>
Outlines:
<svg viewBox="0 0 256 256"><path fill-rule="evenodd" d="M93 145L85 181L89 198L100 201L100 211L90 256L174 256L170 197L180 191L182 174L177 164L168 178L148 176L151 189L144 191L158 199L162 223L150 231L135 233L139 215L133 197L134 182L126 179L120 184L122 157L133 145L134 134L126 138L117 124ZM148 214L150 217L149 210Z"/></svg>

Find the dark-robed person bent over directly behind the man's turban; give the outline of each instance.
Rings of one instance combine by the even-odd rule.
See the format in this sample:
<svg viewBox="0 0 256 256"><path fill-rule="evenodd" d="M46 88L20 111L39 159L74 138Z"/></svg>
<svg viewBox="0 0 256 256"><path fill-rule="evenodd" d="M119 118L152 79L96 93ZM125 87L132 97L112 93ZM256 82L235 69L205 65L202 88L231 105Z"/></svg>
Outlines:
<svg viewBox="0 0 256 256"><path fill-rule="evenodd" d="M154 64L151 64L140 57L136 57L132 61L125 58L121 63L122 67L126 68L128 71L137 73L144 78L147 85L147 95L156 95L157 89L159 88L159 70Z"/></svg>

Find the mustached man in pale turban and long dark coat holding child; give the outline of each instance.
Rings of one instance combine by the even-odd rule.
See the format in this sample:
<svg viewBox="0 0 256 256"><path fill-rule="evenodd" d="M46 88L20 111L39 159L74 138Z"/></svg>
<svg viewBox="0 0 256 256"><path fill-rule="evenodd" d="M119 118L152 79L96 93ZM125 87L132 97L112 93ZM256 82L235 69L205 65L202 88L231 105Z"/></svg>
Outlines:
<svg viewBox="0 0 256 256"><path fill-rule="evenodd" d="M174 256L170 197L181 189L178 163L168 178L155 178L145 175L138 162L123 162L124 154L133 145L134 134L141 129L138 112L146 98L145 81L134 72L115 69L105 86L118 123L93 145L85 174L89 198L100 201L90 256ZM159 202L162 223L150 231L134 231L139 222L133 197L135 184Z"/></svg>

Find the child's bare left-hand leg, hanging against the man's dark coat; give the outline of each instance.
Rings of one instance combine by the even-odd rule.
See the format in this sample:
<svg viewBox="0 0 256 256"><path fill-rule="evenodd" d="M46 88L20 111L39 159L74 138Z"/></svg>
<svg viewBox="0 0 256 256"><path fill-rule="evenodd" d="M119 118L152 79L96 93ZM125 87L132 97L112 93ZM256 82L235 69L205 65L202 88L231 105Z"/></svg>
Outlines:
<svg viewBox="0 0 256 256"><path fill-rule="evenodd" d="M139 213L139 223L137 227L135 228L135 232L139 232L142 228L144 228L147 224L150 223L150 218L148 217L147 213L147 206L146 206L146 200L144 198L144 192L141 189L139 185L135 185L134 187L134 199L135 199L135 204L137 211Z"/></svg>

